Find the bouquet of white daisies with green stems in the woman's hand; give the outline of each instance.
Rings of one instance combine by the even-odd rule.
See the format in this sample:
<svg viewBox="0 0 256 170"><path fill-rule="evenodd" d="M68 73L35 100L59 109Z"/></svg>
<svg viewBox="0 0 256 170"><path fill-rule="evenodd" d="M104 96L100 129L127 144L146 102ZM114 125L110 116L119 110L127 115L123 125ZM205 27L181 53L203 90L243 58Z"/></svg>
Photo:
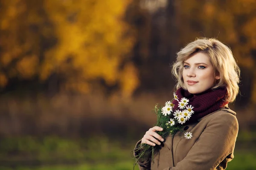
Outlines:
<svg viewBox="0 0 256 170"><path fill-rule="evenodd" d="M166 139L169 135L174 136L175 133L180 131L183 127L183 124L189 120L189 118L192 116L194 111L192 110L194 107L192 105L189 105L189 100L185 97L181 98L180 101L178 99L178 96L176 93L173 93L174 98L171 101L167 101L165 103L165 106L160 107L158 104L155 105L153 112L157 115L157 123L155 126L162 127L162 131L156 131L160 136L162 136L164 139ZM176 107L175 110L174 104L172 101L177 100L178 101L178 107ZM184 137L186 139L192 138L192 133L186 132L184 133ZM161 142L161 141L160 141ZM138 162L140 158L143 158L145 155L152 154L153 159L153 153L154 150L158 146L151 146L148 144L140 144L136 147L134 152L138 152L139 154L135 157L135 164Z"/></svg>

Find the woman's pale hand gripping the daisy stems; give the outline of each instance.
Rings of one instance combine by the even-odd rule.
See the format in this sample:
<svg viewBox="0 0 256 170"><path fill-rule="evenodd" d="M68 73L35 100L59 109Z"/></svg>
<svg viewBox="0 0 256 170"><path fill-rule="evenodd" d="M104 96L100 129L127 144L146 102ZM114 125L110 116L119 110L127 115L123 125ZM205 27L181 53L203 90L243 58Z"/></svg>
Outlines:
<svg viewBox="0 0 256 170"><path fill-rule="evenodd" d="M154 126L150 128L148 131L146 131L145 135L141 139L141 144L145 143L151 146L155 146L156 144L160 145L161 143L159 141L163 142L163 138L155 131L163 131L163 128L159 126Z"/></svg>

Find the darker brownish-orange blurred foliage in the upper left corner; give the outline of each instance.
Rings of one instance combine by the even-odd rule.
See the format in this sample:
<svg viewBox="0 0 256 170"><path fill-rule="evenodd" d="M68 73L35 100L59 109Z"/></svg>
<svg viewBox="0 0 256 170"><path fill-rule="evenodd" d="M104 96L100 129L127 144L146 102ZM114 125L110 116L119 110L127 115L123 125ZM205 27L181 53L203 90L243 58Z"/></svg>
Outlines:
<svg viewBox="0 0 256 170"><path fill-rule="evenodd" d="M23 0L1 0L0 65L5 71L5 82L13 77L30 79L37 72L39 35L35 36L28 29L32 24L27 20L29 12ZM30 15L38 17L36 13Z"/></svg>

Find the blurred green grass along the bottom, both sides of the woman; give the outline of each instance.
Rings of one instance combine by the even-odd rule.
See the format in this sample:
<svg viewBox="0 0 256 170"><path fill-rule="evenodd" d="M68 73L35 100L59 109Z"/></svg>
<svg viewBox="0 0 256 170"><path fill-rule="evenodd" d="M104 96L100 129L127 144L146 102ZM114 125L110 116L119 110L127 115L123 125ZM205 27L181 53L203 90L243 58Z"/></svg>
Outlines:
<svg viewBox="0 0 256 170"><path fill-rule="evenodd" d="M132 170L134 159L130 151L135 143L104 137L1 139L0 170ZM227 170L256 169L255 149L245 148L244 143L237 145L235 158L228 163ZM31 162L39 163L29 166ZM138 165L135 170L138 170Z"/></svg>

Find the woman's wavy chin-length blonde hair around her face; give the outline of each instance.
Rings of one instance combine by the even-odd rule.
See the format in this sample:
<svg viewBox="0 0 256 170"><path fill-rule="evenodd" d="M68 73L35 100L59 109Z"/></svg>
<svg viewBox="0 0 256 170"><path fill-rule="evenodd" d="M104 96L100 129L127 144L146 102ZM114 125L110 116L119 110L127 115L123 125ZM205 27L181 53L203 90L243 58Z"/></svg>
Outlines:
<svg viewBox="0 0 256 170"><path fill-rule="evenodd" d="M239 93L240 69L230 48L214 38L197 38L177 53L177 60L172 66L172 74L177 79L176 90L180 87L186 89L182 77L183 62L198 52L210 57L214 74L220 76L212 90L225 86L227 88L226 101L233 102Z"/></svg>

